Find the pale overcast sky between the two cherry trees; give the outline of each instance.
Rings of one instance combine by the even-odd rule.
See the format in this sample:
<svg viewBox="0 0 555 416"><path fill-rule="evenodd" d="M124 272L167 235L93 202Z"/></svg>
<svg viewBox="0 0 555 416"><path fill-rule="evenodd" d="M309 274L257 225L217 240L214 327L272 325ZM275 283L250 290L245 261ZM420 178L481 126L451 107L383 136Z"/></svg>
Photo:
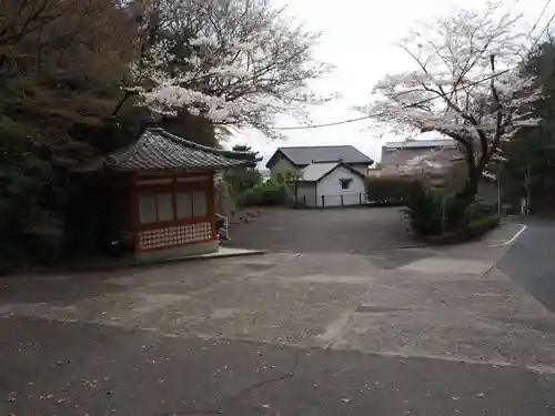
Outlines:
<svg viewBox="0 0 555 416"><path fill-rule="evenodd" d="M395 45L407 28L418 21L433 21L451 6L483 8L485 0L274 0L287 7L287 13L322 37L314 58L332 63L335 70L311 84L319 93L337 92L342 99L310 109L312 124L330 123L364 115L352 108L367 104L373 85L386 74L411 68L406 52ZM522 13L523 30L529 30L547 0L505 0L503 7ZM539 33L555 13L549 4L536 32ZM303 125L287 114L276 118L276 125ZM380 160L385 141L405 138L384 134L372 122L362 121L336 126L284 131L286 140L271 140L255 130L244 130L231 138L226 146L248 144L268 160L279 146L352 144L374 160ZM420 138L418 138L420 139Z"/></svg>

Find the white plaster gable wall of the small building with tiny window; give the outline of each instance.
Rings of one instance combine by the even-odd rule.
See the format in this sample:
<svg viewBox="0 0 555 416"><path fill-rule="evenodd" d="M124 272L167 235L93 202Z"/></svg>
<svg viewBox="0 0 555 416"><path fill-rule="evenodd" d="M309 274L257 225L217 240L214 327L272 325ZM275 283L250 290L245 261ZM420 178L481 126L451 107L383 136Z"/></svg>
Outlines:
<svg viewBox="0 0 555 416"><path fill-rule="evenodd" d="M352 179L349 189L341 187L342 179ZM359 205L365 199L364 179L344 168L337 168L317 183L316 193L319 206L322 206L322 195L324 206L341 206L341 196L343 205Z"/></svg>

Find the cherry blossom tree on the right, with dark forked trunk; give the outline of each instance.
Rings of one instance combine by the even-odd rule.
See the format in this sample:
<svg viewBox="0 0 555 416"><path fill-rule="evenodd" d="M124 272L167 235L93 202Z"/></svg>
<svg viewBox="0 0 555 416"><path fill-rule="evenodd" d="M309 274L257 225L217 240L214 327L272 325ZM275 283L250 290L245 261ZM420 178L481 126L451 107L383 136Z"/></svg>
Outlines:
<svg viewBox="0 0 555 416"><path fill-rule="evenodd" d="M467 180L458 197L474 201L487 165L503 160L500 145L537 119L527 108L541 91L515 68L526 37L518 18L496 4L485 11L453 10L412 30L401 47L415 69L375 85L376 102L363 110L396 131L436 131L464 154Z"/></svg>

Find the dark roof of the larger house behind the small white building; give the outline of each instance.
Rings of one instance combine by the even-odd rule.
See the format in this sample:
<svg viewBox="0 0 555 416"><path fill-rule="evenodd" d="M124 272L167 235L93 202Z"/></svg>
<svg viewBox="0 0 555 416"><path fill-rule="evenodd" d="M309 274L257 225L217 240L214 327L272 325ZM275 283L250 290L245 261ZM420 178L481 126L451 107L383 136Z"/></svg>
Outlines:
<svg viewBox="0 0 555 416"><path fill-rule="evenodd" d="M372 159L352 145L300 146L279 148L273 156L268 161L268 169L271 169L274 165L278 161L279 154L283 154L296 166L306 166L312 162L374 163Z"/></svg>

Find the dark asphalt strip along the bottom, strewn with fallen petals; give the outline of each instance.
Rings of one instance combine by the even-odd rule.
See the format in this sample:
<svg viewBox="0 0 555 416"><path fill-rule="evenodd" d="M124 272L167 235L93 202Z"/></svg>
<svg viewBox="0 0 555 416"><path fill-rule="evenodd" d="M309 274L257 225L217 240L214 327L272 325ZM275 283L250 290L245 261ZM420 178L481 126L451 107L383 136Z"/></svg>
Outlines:
<svg viewBox="0 0 555 416"><path fill-rule="evenodd" d="M0 415L543 416L555 376L0 318Z"/></svg>

